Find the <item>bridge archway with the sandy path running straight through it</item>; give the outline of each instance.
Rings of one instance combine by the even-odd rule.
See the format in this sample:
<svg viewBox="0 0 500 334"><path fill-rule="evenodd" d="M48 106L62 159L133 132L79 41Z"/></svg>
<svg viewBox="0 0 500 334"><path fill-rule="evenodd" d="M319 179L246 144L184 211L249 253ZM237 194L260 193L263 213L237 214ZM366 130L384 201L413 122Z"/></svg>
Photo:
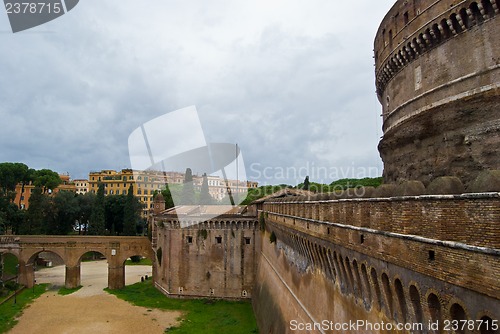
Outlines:
<svg viewBox="0 0 500 334"><path fill-rule="evenodd" d="M101 252L90 251L78 260L80 285L89 293L100 293L108 287L108 261Z"/></svg>

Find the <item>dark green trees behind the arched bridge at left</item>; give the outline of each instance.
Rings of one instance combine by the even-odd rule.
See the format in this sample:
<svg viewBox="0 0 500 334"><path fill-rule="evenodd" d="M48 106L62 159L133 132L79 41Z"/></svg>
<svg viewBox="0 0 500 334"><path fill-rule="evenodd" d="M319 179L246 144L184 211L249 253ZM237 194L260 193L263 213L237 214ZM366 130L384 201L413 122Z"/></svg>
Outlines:
<svg viewBox="0 0 500 334"><path fill-rule="evenodd" d="M97 194L77 195L72 191L53 193L62 183L59 174L34 170L22 163L0 163L0 234L90 234L136 235L143 233L142 204L133 195L104 197L104 185ZM32 184L27 210L15 203L16 186Z"/></svg>

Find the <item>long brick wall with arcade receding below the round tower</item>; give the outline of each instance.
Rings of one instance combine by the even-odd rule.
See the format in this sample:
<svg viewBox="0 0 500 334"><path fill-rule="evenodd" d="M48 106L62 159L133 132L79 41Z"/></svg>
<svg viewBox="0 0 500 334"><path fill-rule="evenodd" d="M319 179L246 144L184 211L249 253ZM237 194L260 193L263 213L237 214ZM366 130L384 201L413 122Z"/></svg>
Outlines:
<svg viewBox="0 0 500 334"><path fill-rule="evenodd" d="M374 321L374 314L442 324L457 319L456 309L468 320L500 318L499 194L276 199L262 212L265 261L256 287L267 300L254 300L261 329L290 332L294 317ZM286 295L290 304L277 305L269 294ZM329 298L338 307L326 307ZM279 328L262 311L269 305Z"/></svg>

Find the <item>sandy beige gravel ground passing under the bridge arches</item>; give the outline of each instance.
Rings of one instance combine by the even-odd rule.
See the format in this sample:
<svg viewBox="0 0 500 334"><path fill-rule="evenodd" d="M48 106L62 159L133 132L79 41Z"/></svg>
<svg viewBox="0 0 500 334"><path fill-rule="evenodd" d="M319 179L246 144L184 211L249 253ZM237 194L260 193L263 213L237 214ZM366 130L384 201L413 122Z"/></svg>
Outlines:
<svg viewBox="0 0 500 334"><path fill-rule="evenodd" d="M36 272L37 283L64 285L64 266ZM127 266L125 283L151 276L151 266ZM83 262L82 288L61 296L57 289L43 294L26 308L12 334L58 333L164 333L178 324L181 312L150 310L133 306L103 291L107 286L106 261Z"/></svg>

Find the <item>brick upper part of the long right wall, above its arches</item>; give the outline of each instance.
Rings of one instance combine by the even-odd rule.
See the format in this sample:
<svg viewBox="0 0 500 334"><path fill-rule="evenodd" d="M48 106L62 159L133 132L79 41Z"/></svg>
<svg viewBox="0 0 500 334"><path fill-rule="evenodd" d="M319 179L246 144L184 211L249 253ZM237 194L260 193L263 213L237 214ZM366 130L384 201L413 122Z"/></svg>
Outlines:
<svg viewBox="0 0 500 334"><path fill-rule="evenodd" d="M313 219L318 206L322 221ZM499 194L277 201L264 211L287 228L500 298Z"/></svg>

